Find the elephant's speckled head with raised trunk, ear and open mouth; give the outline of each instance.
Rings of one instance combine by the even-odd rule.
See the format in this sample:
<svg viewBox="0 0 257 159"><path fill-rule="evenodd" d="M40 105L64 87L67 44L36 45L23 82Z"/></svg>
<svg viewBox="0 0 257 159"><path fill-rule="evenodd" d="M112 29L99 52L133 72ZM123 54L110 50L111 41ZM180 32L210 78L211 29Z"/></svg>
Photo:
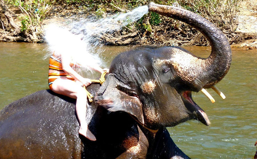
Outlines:
<svg viewBox="0 0 257 159"><path fill-rule="evenodd" d="M228 72L231 48L226 36L208 20L187 10L154 3L148 7L200 30L211 43L211 55L203 59L179 47L137 48L121 53L112 61L110 74L95 100L109 111L125 111L155 129L189 119L209 125L191 92L212 87Z"/></svg>

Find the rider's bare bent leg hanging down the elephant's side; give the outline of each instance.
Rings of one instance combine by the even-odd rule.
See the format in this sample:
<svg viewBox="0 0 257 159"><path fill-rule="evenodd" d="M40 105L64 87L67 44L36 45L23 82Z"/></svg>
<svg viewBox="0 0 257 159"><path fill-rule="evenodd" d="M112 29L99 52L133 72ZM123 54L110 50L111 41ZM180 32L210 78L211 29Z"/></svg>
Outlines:
<svg viewBox="0 0 257 159"><path fill-rule="evenodd" d="M77 99L75 109L80 124L79 134L85 136L92 141L95 141L96 137L88 129L88 125L86 123L87 96L85 89L74 81L66 78L59 78L53 82L52 90L55 93Z"/></svg>

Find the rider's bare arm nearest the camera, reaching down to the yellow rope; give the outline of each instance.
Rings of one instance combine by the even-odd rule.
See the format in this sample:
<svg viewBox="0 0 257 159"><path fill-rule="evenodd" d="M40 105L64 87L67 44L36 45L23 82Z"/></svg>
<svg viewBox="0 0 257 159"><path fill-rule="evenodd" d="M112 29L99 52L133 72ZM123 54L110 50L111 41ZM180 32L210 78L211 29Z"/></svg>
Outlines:
<svg viewBox="0 0 257 159"><path fill-rule="evenodd" d="M88 86L91 84L90 79L84 78L81 75L79 75L74 69L70 66L70 57L62 55L61 56L62 61L62 69L65 71L68 75L76 79L77 81L81 82L83 85Z"/></svg>

